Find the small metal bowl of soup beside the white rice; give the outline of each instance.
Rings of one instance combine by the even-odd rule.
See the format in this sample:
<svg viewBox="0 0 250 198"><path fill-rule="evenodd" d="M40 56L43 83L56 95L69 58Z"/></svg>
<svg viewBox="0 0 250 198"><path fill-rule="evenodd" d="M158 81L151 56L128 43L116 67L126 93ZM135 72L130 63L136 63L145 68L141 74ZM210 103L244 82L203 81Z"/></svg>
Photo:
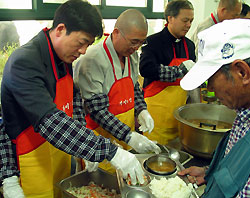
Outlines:
<svg viewBox="0 0 250 198"><path fill-rule="evenodd" d="M153 155L143 163L144 168L156 175L171 175L176 171L176 163L166 154Z"/></svg>

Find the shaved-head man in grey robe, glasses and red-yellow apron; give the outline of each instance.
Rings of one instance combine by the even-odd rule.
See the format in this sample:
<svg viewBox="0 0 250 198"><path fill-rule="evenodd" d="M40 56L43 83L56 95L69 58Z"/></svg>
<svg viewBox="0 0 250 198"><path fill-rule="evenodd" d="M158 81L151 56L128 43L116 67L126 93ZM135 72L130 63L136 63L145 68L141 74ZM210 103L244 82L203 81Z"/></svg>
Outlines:
<svg viewBox="0 0 250 198"><path fill-rule="evenodd" d="M141 12L128 9L121 13L112 34L91 46L77 62L74 81L84 99L88 128L114 139L125 149L129 145L139 153L159 153L154 142L134 131L135 116L142 132L150 133L154 128L137 82L136 51L144 43L147 31L147 20ZM107 163L100 166L112 171Z"/></svg>

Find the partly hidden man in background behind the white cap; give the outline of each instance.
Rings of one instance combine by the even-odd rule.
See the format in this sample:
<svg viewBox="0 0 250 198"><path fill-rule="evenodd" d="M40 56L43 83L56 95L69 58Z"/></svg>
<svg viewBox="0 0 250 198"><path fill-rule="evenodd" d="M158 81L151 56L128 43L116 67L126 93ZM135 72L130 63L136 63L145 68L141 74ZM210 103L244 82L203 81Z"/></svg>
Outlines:
<svg viewBox="0 0 250 198"><path fill-rule="evenodd" d="M207 17L198 25L197 29L191 37L191 40L195 44L196 58L198 58L198 33L226 19L239 18L241 9L241 0L220 0L217 10L211 13L209 17Z"/></svg>

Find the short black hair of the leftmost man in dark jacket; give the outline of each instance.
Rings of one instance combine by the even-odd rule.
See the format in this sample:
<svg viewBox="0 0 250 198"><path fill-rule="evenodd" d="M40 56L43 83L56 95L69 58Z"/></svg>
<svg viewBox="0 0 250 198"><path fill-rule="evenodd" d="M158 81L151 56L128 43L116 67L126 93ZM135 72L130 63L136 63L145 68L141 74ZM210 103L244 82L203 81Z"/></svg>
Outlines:
<svg viewBox="0 0 250 198"><path fill-rule="evenodd" d="M93 37L103 35L102 16L98 8L83 0L68 0L59 6L55 12L52 29L63 23L67 34L73 31L83 31Z"/></svg>

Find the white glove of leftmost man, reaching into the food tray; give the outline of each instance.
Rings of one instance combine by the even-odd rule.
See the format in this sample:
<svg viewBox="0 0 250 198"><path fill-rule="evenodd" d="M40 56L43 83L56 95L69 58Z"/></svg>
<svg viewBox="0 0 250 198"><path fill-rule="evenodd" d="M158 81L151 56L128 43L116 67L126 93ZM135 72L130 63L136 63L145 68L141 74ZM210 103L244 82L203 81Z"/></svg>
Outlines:
<svg viewBox="0 0 250 198"><path fill-rule="evenodd" d="M127 179L129 174L132 185L136 185L137 181L140 184L143 184L145 182L142 166L134 154L118 147L118 150L110 163L116 169L122 171L124 179Z"/></svg>

